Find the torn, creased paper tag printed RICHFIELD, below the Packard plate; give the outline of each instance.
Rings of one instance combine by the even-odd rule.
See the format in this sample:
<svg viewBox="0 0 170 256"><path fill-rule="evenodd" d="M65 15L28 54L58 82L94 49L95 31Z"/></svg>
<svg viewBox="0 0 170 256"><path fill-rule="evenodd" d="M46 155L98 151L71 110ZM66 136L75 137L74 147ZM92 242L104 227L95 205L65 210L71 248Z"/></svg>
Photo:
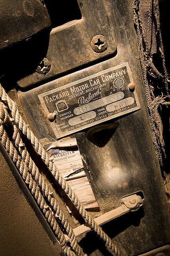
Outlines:
<svg viewBox="0 0 170 256"><path fill-rule="evenodd" d="M53 147L51 146L52 144L53 146L56 144L57 148L51 148ZM69 150L69 148L72 149L72 145L74 145L74 151ZM50 152L53 162L56 164L64 179L67 180L69 186L74 190L78 199L84 205L84 208L93 210L96 208L95 210L98 210L98 202L96 201L88 178L83 170L84 166L80 151L78 146L75 147L75 145L77 145L76 138L69 138L53 142L50 146L48 144L45 148L47 149L48 146L48 152ZM61 195L63 196L68 211L73 212L72 203L68 197L66 197L62 191Z"/></svg>

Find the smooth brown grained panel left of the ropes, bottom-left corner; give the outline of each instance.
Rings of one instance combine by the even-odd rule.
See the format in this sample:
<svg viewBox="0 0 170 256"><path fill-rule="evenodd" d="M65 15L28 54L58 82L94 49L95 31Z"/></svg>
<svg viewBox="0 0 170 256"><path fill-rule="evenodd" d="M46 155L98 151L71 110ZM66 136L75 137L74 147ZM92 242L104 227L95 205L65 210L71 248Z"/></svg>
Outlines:
<svg viewBox="0 0 170 256"><path fill-rule="evenodd" d="M54 242L52 232L50 239L0 152L0 255L63 255L52 239Z"/></svg>

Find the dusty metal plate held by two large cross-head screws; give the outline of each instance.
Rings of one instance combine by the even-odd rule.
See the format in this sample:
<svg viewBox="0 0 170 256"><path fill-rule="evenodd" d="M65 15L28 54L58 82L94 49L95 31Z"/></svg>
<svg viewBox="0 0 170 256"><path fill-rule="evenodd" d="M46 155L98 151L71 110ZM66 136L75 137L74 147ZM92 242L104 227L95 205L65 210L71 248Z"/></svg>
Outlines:
<svg viewBox="0 0 170 256"><path fill-rule="evenodd" d="M81 0L78 2L82 19L53 28L50 33L47 54L43 56L51 63L50 71L44 75L34 70L32 74L18 80L19 86L28 87L43 82L58 74L115 53L117 47L114 29L111 28L107 17L105 1ZM102 34L107 39L108 46L104 52L92 50L90 42L98 34Z"/></svg>

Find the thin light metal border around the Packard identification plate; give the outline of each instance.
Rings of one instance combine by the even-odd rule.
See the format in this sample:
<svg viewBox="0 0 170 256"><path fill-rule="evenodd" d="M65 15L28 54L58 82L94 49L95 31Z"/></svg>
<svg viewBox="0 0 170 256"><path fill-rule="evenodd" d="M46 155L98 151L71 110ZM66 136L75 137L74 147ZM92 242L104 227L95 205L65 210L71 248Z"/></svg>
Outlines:
<svg viewBox="0 0 170 256"><path fill-rule="evenodd" d="M84 81L86 81L86 80L89 80L90 78L95 78L96 76L100 76L100 75L102 75L102 74L106 74L107 72L110 72L110 71L113 71L113 70L116 70L116 69L118 69L118 68L122 68L122 67L125 67L125 66L126 66L126 68L127 68L127 73L128 73L128 75L129 75L130 82L133 83L133 77L132 77L132 74L131 74L131 70L130 70L130 67L129 67L129 63L128 63L128 62L125 62L125 63L120 64L120 65L118 65L118 66L114 66L114 67L112 67L112 68L107 68L106 70L102 70L102 71L100 71L100 72L98 72L98 73L95 73L95 74L93 74L93 75L86 76L85 78L76 80L76 81L74 81L74 82L71 82L71 83L66 84L66 85L63 85L63 86L60 86L60 87L58 87L58 88L56 88L56 89L54 89L54 90L49 90L49 91L44 92L44 93L42 93L42 94L38 94L37 96L38 96L38 98L39 98L39 100L40 100L40 102L41 102L41 104L42 104L42 106L43 106L43 108L44 108L45 114L48 115L48 114L49 114L49 111L48 111L48 109L47 109L47 107L46 107L46 105L45 105L45 102L44 102L44 100L43 100L43 97L44 97L44 96L47 96L47 95L49 95L49 94L51 94L51 93L60 91L60 90L62 90L62 89L66 89L66 88L68 88L68 87L70 87L70 86L74 86L74 85L76 85L76 84L79 84L79 83L81 83L81 82L84 82ZM46 85L47 85L47 86L48 86L48 85L50 86L51 83L54 84L55 82L57 83L57 79L54 80L53 82L47 83ZM136 100L136 104L137 104L137 106L134 107L134 108L131 108L131 109L129 109L129 110L125 110L125 111L123 111L123 112L114 114L113 116L108 116L107 118L104 118L103 120L98 120L98 121L96 121L96 122L93 122L92 124L86 124L86 125L84 125L84 126L82 126L82 127L80 127L80 128L76 128L76 129L73 129L73 130L68 131L68 132L61 132L61 133L59 133L58 130L57 130L57 128L56 128L56 125L53 124L53 123L51 123L51 128L53 129L53 131L54 131L54 133L55 133L55 136L56 136L57 138L62 138L62 137L67 136L67 135L69 135L69 134L73 134L73 133L78 132L78 131L80 131L80 130L84 130L84 129L88 128L88 127L95 126L96 124L100 124L100 123L106 122L107 120L111 120L111 119L117 118L117 117L119 117L119 116L123 116L123 115L125 115L125 114L129 114L129 113L131 113L131 112L137 111L137 110L141 109L141 108L140 108L140 104L139 104L139 99L138 99L138 97L137 97L137 92L136 92L136 91L134 91L133 94L134 94L134 97L135 97L135 100ZM117 102L118 102L118 101L117 101ZM88 112L87 112L87 113L88 113Z"/></svg>

